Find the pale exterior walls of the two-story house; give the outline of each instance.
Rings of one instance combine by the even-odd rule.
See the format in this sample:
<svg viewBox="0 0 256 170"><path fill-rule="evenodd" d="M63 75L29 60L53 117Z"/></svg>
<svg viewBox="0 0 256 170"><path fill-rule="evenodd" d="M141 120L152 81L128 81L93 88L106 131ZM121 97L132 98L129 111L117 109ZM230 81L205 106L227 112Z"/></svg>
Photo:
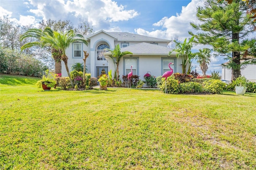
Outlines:
<svg viewBox="0 0 256 170"><path fill-rule="evenodd" d="M115 45L117 45L117 44L121 45L121 43L125 43L125 42L124 41L114 41L114 38L112 36L109 36L108 34L105 34L104 32L100 32L99 34L96 34L90 38L90 40L88 41L88 46L85 44L82 45L82 57L81 58L73 57L73 55L74 55L73 54L73 44L70 45L70 47L66 50L66 55L68 56L69 71L70 72L72 71L71 67L74 63L84 63L83 51L87 51L89 53L89 57L86 59L87 72L91 73L92 77L97 77L96 76L96 68L97 67L108 67L108 71L112 70L112 75L114 76L115 65L111 58L106 57L106 59L109 61L97 60L97 47L98 47L98 45L100 45L102 43L107 44L110 49L114 49ZM142 43L142 42L128 42L127 41L126 43L128 43L129 46L131 46L131 45L136 45L136 44ZM148 42L148 43L153 43L153 42ZM158 43L158 45L161 45L164 47L167 46L166 42L154 42L154 43ZM128 55L128 57L130 57L130 56ZM138 75L140 76L141 79L144 79L143 76L148 71L150 71L150 73L156 77L163 74L161 71L162 70L161 65L162 65L162 57L165 57L165 56L133 56L133 57L138 57L138 73L139 73ZM180 67L181 59L176 58L176 56L173 56L173 58L176 59L176 61L177 61L176 66L178 66L175 69L175 72L182 72L182 68ZM119 63L120 78L122 78L122 75L125 74L124 69L125 69L124 68L124 59L121 59L121 61ZM65 67L63 61L62 61L62 76L64 76L64 77L68 76L66 67Z"/></svg>

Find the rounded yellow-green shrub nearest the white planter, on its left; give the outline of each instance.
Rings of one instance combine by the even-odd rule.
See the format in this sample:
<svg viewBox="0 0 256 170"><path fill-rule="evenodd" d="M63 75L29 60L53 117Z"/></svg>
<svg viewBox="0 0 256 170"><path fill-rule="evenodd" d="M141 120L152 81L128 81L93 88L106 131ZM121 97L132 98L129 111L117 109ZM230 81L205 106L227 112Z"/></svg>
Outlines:
<svg viewBox="0 0 256 170"><path fill-rule="evenodd" d="M203 88L205 92L220 94L225 89L226 83L222 82L221 80L209 80L203 83Z"/></svg>

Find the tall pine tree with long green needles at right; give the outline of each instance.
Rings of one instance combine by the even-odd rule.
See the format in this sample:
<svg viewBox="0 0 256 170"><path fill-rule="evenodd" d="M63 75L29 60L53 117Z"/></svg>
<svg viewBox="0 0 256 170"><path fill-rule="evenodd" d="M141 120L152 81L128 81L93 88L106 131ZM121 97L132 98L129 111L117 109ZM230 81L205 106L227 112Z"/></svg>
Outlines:
<svg viewBox="0 0 256 170"><path fill-rule="evenodd" d="M232 69L232 80L241 75L246 65L256 63L255 38L246 39L255 31L256 23L250 18L252 14L246 14L247 9L246 2L240 0L231 4L205 0L204 7L197 8L196 16L201 23L190 23L195 30L202 31L195 35L197 43L211 45L214 51L227 56L229 62L225 66Z"/></svg>

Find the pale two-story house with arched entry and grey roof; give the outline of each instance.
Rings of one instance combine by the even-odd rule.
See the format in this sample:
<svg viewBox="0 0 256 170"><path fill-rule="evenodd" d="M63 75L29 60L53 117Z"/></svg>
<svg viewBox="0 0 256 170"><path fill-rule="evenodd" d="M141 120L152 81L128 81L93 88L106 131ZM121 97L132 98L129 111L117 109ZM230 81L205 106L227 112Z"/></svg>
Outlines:
<svg viewBox="0 0 256 170"><path fill-rule="evenodd" d="M172 65L174 73L182 73L181 58L177 58L175 53L169 56L171 49L167 45L170 40L127 32L105 32L104 30L87 35L85 38L88 41L88 46L75 42L67 49L68 67L71 68L74 63L83 63L83 50L87 51L89 53L89 57L86 59L87 72L91 73L92 77L98 77L102 69L105 69L106 73L112 70L112 74L114 74L114 62L104 49L114 49L117 44L120 45L121 51L133 53L122 57L119 63L121 79L122 75L127 75L130 72L131 65L133 65L133 75L139 75L142 80L146 73L157 77L170 70L169 62L174 63ZM62 76L67 76L63 62Z"/></svg>

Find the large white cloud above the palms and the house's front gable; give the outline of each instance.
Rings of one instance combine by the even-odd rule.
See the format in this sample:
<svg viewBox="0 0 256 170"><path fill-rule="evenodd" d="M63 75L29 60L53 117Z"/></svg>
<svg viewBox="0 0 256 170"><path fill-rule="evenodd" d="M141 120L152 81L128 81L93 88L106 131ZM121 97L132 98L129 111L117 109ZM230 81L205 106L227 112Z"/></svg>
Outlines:
<svg viewBox="0 0 256 170"><path fill-rule="evenodd" d="M130 20L139 15L135 10L125 10L124 6L118 6L112 0L68 0L66 3L64 0L29 0L29 2L37 8L31 9L30 12L45 20L65 18L76 26L79 18L88 18L94 30L99 28L107 30L112 22Z"/></svg>

